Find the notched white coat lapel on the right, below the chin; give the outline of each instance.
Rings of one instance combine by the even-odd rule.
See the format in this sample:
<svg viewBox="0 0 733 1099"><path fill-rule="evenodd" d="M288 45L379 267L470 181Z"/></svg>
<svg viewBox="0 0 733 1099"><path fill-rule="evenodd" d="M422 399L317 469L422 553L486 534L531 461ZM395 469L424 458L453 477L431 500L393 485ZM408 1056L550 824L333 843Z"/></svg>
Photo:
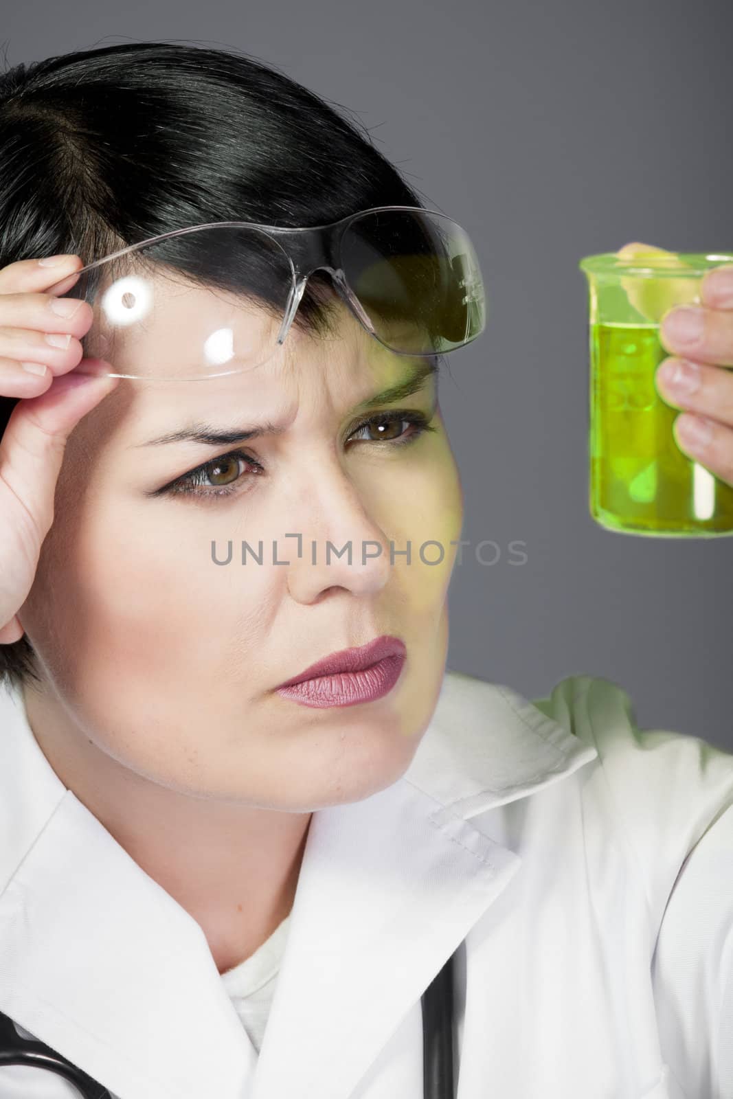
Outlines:
<svg viewBox="0 0 733 1099"><path fill-rule="evenodd" d="M446 674L402 779L311 822L253 1099L353 1094L520 868L480 814L597 754L510 688Z"/></svg>

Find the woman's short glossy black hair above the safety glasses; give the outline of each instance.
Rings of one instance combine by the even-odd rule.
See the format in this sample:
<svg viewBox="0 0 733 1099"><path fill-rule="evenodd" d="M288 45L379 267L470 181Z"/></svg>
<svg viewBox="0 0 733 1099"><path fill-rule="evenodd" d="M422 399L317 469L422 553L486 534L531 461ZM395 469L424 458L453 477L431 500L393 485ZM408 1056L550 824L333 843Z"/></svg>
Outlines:
<svg viewBox="0 0 733 1099"><path fill-rule="evenodd" d="M84 263L186 225L323 225L424 207L345 109L233 49L137 42L0 74L0 266ZM293 324L318 328L319 276ZM74 291L70 291L71 293ZM19 398L0 398L0 436ZM38 679L27 637L0 684Z"/></svg>

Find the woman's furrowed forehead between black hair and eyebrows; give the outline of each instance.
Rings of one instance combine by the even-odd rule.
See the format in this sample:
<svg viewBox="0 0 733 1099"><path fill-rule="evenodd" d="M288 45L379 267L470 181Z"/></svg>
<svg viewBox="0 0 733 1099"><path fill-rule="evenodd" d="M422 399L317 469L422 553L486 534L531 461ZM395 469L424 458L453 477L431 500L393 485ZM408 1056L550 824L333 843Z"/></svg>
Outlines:
<svg viewBox="0 0 733 1099"><path fill-rule="evenodd" d="M281 317L243 295L162 279L146 306L144 300L125 302L130 286L123 284L105 310L96 309L89 333L89 354L105 358L114 373L157 370L158 377L145 380L122 378L99 407L104 430L114 431L129 447L193 420L287 423L298 415L338 414L429 369L425 358L386 348L335 295L326 332L291 325L278 345ZM116 324L114 310L129 308L137 310L137 319ZM269 357L260 363L265 347ZM227 356L224 365L213 367L219 376L182 380L215 363L216 355Z"/></svg>

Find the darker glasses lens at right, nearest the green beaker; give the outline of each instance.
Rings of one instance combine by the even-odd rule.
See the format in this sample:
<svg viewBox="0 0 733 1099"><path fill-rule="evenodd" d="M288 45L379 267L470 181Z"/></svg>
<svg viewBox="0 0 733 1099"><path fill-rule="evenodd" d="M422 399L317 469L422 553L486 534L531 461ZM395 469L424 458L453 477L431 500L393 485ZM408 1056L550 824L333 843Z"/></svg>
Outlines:
<svg viewBox="0 0 733 1099"><path fill-rule="evenodd" d="M445 354L486 325L484 280L467 233L444 214L380 210L341 238L346 281L391 351Z"/></svg>

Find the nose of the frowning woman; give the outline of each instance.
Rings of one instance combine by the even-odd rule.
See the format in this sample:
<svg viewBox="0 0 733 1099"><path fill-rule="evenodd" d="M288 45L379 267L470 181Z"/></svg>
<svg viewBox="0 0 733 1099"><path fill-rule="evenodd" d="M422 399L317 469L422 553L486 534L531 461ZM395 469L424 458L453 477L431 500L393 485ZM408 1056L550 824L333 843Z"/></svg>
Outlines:
<svg viewBox="0 0 733 1099"><path fill-rule="evenodd" d="M336 463L321 465L300 507L300 517L286 540L287 580L291 597L313 603L336 591L374 595L387 584L391 570L389 539L368 503ZM398 560L401 558L397 558Z"/></svg>

